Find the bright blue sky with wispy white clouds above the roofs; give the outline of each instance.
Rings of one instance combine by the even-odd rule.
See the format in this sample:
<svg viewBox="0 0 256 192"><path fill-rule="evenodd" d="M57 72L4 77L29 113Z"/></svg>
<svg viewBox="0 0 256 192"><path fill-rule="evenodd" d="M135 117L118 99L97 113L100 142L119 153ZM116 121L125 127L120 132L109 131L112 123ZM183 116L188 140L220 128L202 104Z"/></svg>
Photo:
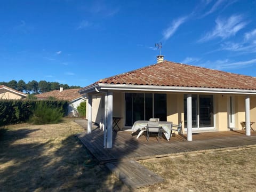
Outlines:
<svg viewBox="0 0 256 192"><path fill-rule="evenodd" d="M87 86L168 61L256 76L256 0L0 2L0 81Z"/></svg>

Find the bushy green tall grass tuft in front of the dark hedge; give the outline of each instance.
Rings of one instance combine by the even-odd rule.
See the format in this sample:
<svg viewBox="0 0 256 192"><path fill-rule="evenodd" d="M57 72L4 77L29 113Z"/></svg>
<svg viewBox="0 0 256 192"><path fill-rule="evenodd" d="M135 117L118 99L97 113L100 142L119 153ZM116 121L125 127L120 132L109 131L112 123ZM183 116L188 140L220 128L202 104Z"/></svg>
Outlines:
<svg viewBox="0 0 256 192"><path fill-rule="evenodd" d="M46 103L36 103L33 116L30 122L36 125L59 123L63 117L61 108L53 108Z"/></svg>

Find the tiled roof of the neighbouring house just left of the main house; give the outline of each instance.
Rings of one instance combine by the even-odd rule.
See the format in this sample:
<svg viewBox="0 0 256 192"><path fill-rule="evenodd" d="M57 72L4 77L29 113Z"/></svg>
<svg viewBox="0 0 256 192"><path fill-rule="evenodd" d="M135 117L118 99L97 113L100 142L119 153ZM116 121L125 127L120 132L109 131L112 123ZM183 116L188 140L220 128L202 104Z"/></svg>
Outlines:
<svg viewBox="0 0 256 192"><path fill-rule="evenodd" d="M79 89L67 89L60 92L60 90L54 90L45 92L42 94L37 94L35 97L38 99L47 99L49 97L53 97L58 100L65 100L65 101L73 101L74 99L82 97L77 91Z"/></svg>

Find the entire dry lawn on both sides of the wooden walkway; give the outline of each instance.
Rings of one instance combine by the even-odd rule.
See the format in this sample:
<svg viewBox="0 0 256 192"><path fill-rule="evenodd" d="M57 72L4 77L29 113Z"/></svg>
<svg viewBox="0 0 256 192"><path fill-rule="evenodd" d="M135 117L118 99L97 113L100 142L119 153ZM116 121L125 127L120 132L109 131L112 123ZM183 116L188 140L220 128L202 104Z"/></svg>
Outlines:
<svg viewBox="0 0 256 192"><path fill-rule="evenodd" d="M72 119L0 129L0 191L129 191L74 137ZM135 191L255 191L256 147L140 161L165 179Z"/></svg>

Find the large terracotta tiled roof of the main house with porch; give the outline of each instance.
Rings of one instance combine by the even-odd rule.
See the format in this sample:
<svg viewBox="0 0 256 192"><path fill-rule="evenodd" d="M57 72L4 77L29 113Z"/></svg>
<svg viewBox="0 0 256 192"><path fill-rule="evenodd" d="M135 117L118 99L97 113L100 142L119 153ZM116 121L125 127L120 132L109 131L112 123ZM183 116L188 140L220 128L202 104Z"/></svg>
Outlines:
<svg viewBox="0 0 256 192"><path fill-rule="evenodd" d="M256 77L164 61L101 79L99 83L256 90Z"/></svg>

